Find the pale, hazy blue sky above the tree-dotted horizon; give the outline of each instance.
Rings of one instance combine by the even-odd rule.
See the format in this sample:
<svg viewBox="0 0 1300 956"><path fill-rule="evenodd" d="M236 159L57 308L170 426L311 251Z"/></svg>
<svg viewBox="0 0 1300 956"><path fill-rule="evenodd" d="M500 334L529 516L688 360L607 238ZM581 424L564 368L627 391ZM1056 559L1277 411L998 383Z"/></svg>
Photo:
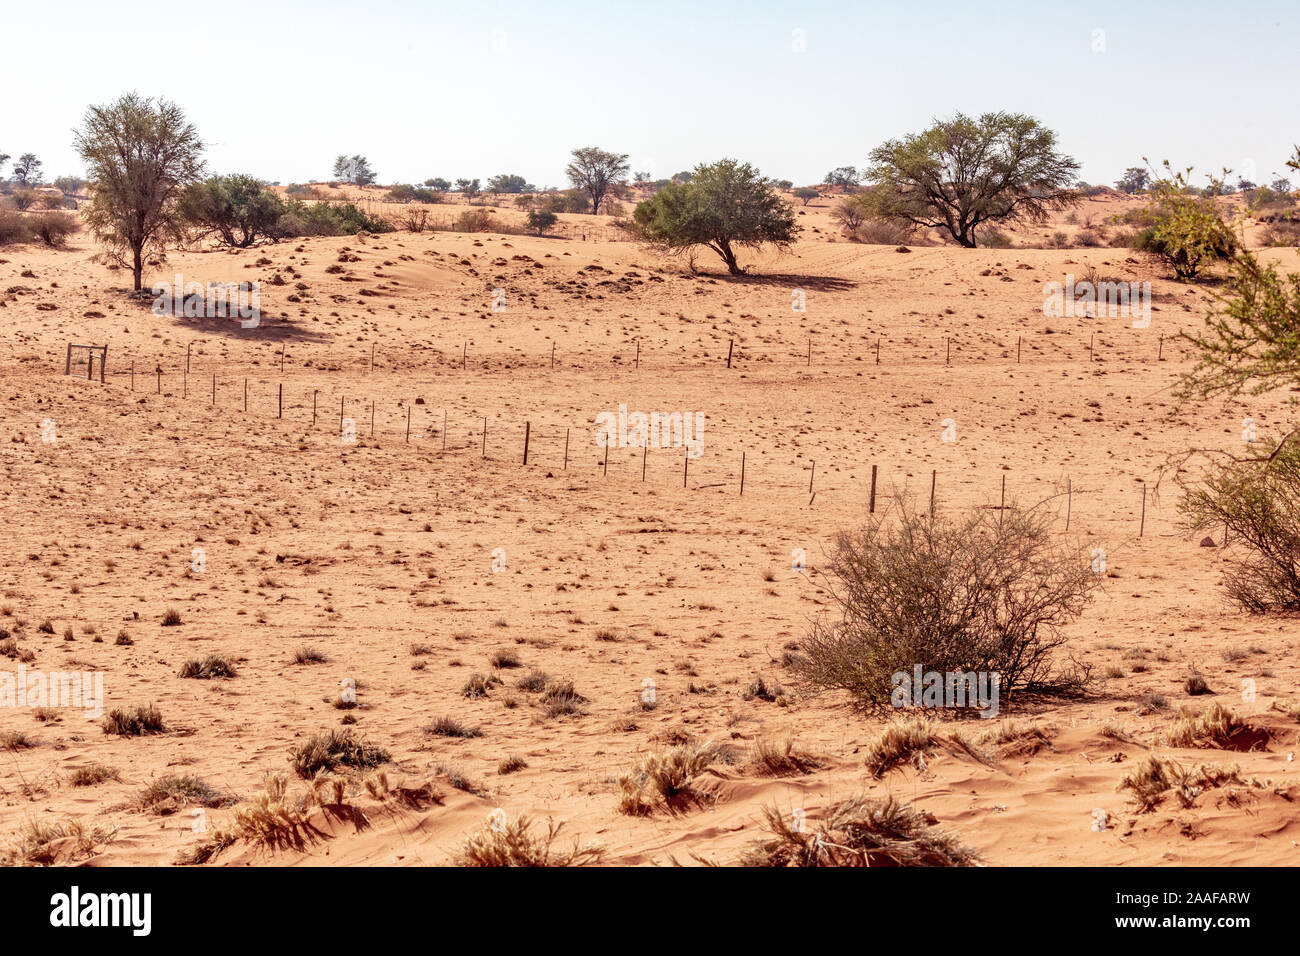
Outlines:
<svg viewBox="0 0 1300 956"><path fill-rule="evenodd" d="M1039 117L1089 182L1143 155L1266 182L1300 142L1295 0L51 0L0 22L0 151L47 178L79 172L86 105L127 90L179 103L213 172L286 183L361 152L381 182L564 185L590 144L656 178L736 156L819 182L956 111Z"/></svg>

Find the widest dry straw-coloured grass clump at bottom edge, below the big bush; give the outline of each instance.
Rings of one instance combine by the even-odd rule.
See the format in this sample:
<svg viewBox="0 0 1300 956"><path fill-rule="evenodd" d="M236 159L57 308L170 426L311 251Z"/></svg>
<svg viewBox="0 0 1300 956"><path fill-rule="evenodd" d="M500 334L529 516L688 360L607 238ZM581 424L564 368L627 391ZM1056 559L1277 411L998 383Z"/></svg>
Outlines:
<svg viewBox="0 0 1300 956"><path fill-rule="evenodd" d="M741 866L975 866L979 855L933 826L932 818L889 796L835 804L814 831L763 808L771 838L740 858Z"/></svg>

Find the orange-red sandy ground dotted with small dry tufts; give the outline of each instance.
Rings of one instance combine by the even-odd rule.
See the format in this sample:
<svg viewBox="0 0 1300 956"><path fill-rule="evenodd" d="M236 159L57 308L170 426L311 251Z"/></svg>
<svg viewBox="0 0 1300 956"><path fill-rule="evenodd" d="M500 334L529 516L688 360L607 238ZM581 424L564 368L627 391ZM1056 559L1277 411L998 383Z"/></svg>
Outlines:
<svg viewBox="0 0 1300 956"><path fill-rule="evenodd" d="M1091 200L1079 216L1127 204ZM256 329L152 315L86 237L0 250L0 627L29 669L100 671L108 709L152 702L168 727L118 737L75 709L0 711L32 744L0 752L0 844L79 822L99 839L56 844L60 862L172 862L204 834L187 809L142 809L151 780L192 774L251 799L346 718L391 752L391 780L433 779L442 803L361 793L360 814L317 813L302 845L237 843L216 864L443 864L498 808L564 821L607 862L732 862L764 806L812 822L863 791L914 801L989 865L1300 862L1300 724L1271 709L1297 700L1300 626L1232 609L1222 550L1182 528L1176 489L1154 488L1170 455L1240 447L1247 416L1280 433L1288 395L1175 408L1190 358L1174 337L1200 325L1212 290L1124 250L897 252L837 239L829 207L802 209L809 230L789 254L745 256L745 278L708 254L690 274L581 216L563 217L568 230L590 222L602 241L399 232L177 252L148 269L147 282L260 281ZM1057 228L1072 230L1017 238ZM1265 255L1300 269L1295 251ZM1152 281L1149 328L1044 316L1044 284L1089 265ZM62 375L70 341L108 345L105 384ZM595 419L620 405L701 412L702 457L615 447L606 470ZM948 510L996 505L1004 480L1022 503L1069 483L1069 533L1108 557L1071 645L1113 676L1083 701L1004 706L1052 727L1048 741L989 762L941 749L875 779L862 748L883 722L790 688L781 653L827 606L819 564L863 519L872 466L880 502L927 497L933 475ZM179 626L162 626L169 609ZM304 645L328 659L295 663ZM462 696L498 650L524 667ZM208 653L238 676L178 676ZM1214 696L1187 696L1191 667ZM514 685L529 669L572 678L586 713L546 718ZM748 697L758 676L790 689ZM344 711L333 702L347 682L358 706ZM1148 693L1170 706L1143 708ZM1251 752L1158 744L1180 708L1210 701L1270 739ZM482 736L428 734L442 715ZM689 808L620 814L618 775L686 736L738 758L707 771ZM823 766L774 778L746 762L758 739L784 736ZM1235 763L1247 783L1141 813L1117 784L1148 753ZM526 767L498 773L512 754ZM120 779L73 786L90 765ZM207 810L207 826L229 814Z"/></svg>

